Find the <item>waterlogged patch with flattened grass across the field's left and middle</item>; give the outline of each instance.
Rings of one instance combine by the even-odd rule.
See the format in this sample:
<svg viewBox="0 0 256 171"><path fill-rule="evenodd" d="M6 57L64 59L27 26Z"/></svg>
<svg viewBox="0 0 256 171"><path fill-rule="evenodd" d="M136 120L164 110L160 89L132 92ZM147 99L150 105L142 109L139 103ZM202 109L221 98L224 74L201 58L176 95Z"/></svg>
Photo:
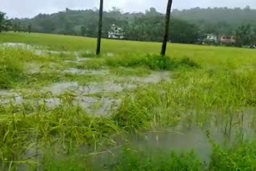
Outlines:
<svg viewBox="0 0 256 171"><path fill-rule="evenodd" d="M1 48L29 50L36 56L47 55L45 58L54 58L51 57L54 54L60 55L61 58L63 55L65 58L73 59L69 61L64 60L62 62L63 66L58 66L59 61L48 62L43 65L39 62L28 62L25 66L25 72L30 74L31 77L37 74L49 74L50 77L58 77L58 74L62 74L63 77L68 75L68 77L74 79L72 82L60 80L59 82L38 86L36 89L26 85L20 85L18 89L0 89L0 104L2 105L34 103L34 105L45 104L46 108L53 109L62 104L62 96L70 94L74 97L72 103L81 106L87 113L110 115L113 113L113 110L118 109L126 92L133 91L142 85L172 81L170 71L144 70L145 74L142 75L122 76L116 72L126 69L120 68L117 71L113 71L113 69L108 67L99 70L74 68L74 63L81 65L82 62L89 62L93 59L86 57L86 54L90 57L90 51L86 51L86 54L79 54L76 52L40 50L38 46L29 46L22 43L4 43ZM110 56L110 54L106 54L106 56ZM130 72L134 71L131 69ZM76 80L77 76L78 80ZM79 82L82 78L90 78L90 80L88 82ZM40 94L43 98L34 98L35 94Z"/></svg>

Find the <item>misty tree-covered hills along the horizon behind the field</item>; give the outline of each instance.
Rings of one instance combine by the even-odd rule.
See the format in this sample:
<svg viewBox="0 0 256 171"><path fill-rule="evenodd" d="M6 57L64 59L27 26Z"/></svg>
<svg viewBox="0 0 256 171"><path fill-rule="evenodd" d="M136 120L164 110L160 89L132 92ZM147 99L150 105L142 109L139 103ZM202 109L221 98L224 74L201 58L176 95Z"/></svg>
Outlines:
<svg viewBox="0 0 256 171"><path fill-rule="evenodd" d="M256 10L228 8L194 8L190 10L173 10L173 27L195 37L194 34L232 34L238 26L256 25ZM127 39L160 41L161 30L164 26L164 14L158 13L154 8L146 10L146 13L122 13L119 9L107 11L103 18L103 36L112 24L116 24L124 30ZM95 37L97 34L98 11L97 10L70 10L56 14L38 14L28 19L13 20L19 26L32 25L35 32L52 34L75 34ZM184 27L189 27L186 30ZM197 33L195 33L197 32ZM174 33L171 33L174 34ZM198 36L198 35L197 35Z"/></svg>

